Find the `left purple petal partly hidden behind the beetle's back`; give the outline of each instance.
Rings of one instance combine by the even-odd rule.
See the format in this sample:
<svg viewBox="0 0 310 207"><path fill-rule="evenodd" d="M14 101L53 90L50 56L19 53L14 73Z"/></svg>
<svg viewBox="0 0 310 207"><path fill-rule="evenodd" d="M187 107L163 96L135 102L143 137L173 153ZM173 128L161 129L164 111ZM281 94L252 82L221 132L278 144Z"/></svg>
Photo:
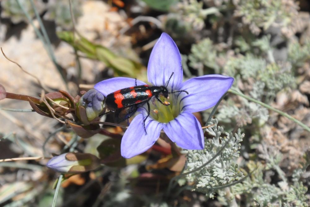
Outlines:
<svg viewBox="0 0 310 207"><path fill-rule="evenodd" d="M143 81L137 80L137 85L145 85ZM96 83L94 88L102 93L105 97L114 91L135 86L134 78L117 77Z"/></svg>

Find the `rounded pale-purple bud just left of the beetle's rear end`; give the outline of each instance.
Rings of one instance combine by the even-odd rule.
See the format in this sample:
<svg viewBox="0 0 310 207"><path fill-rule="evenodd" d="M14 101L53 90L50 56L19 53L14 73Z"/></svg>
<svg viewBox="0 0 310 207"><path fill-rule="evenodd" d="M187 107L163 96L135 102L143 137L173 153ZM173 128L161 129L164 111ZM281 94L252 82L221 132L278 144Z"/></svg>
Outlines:
<svg viewBox="0 0 310 207"><path fill-rule="evenodd" d="M78 117L82 119L84 111L88 121L94 120L104 109L103 107L104 96L96 89L87 91L78 102ZM84 109L81 109L83 107ZM83 119L82 119L83 121Z"/></svg>

